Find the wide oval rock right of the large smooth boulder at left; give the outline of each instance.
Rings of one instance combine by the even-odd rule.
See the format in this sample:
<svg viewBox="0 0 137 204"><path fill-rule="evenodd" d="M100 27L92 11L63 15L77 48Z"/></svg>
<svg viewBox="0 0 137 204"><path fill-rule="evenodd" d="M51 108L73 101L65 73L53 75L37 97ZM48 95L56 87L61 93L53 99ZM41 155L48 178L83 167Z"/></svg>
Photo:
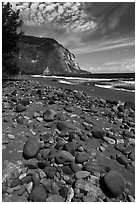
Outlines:
<svg viewBox="0 0 137 204"><path fill-rule="evenodd" d="M55 160L57 163L63 164L64 162L74 161L74 157L67 151L58 151L55 155Z"/></svg>

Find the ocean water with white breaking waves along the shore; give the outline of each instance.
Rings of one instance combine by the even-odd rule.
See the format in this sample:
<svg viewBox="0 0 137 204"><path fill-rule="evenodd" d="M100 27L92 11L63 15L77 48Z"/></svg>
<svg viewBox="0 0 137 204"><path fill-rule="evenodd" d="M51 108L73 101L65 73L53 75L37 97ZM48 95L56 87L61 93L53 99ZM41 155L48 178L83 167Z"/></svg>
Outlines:
<svg viewBox="0 0 137 204"><path fill-rule="evenodd" d="M96 86L105 89L114 89L135 92L135 74L92 74L84 77L72 76L42 76L31 75L31 77L48 78L58 83L72 85Z"/></svg>

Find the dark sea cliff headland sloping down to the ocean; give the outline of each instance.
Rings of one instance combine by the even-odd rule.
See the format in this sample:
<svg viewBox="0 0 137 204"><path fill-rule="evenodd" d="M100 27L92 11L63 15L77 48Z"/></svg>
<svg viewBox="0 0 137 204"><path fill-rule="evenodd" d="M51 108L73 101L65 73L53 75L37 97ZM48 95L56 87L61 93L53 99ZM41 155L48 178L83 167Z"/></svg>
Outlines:
<svg viewBox="0 0 137 204"><path fill-rule="evenodd" d="M80 69L74 54L51 38L21 37L17 61L21 72L25 74L87 73Z"/></svg>

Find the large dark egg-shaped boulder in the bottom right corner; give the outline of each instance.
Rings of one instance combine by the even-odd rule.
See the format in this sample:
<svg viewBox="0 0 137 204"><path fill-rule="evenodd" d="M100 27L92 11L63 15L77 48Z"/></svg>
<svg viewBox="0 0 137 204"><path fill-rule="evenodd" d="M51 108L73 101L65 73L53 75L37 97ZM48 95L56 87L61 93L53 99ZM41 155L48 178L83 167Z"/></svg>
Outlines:
<svg viewBox="0 0 137 204"><path fill-rule="evenodd" d="M125 180L118 171L110 170L109 173L104 176L103 181L109 196L115 198L124 192Z"/></svg>

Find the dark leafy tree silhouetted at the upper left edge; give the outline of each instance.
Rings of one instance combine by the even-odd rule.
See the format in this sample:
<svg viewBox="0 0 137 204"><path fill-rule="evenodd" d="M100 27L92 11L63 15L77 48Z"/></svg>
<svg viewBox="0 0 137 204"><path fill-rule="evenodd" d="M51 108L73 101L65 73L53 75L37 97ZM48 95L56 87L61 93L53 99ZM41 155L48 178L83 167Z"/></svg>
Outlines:
<svg viewBox="0 0 137 204"><path fill-rule="evenodd" d="M2 74L16 75L19 72L15 59L17 42L23 34L19 12L14 11L9 2L2 3Z"/></svg>

